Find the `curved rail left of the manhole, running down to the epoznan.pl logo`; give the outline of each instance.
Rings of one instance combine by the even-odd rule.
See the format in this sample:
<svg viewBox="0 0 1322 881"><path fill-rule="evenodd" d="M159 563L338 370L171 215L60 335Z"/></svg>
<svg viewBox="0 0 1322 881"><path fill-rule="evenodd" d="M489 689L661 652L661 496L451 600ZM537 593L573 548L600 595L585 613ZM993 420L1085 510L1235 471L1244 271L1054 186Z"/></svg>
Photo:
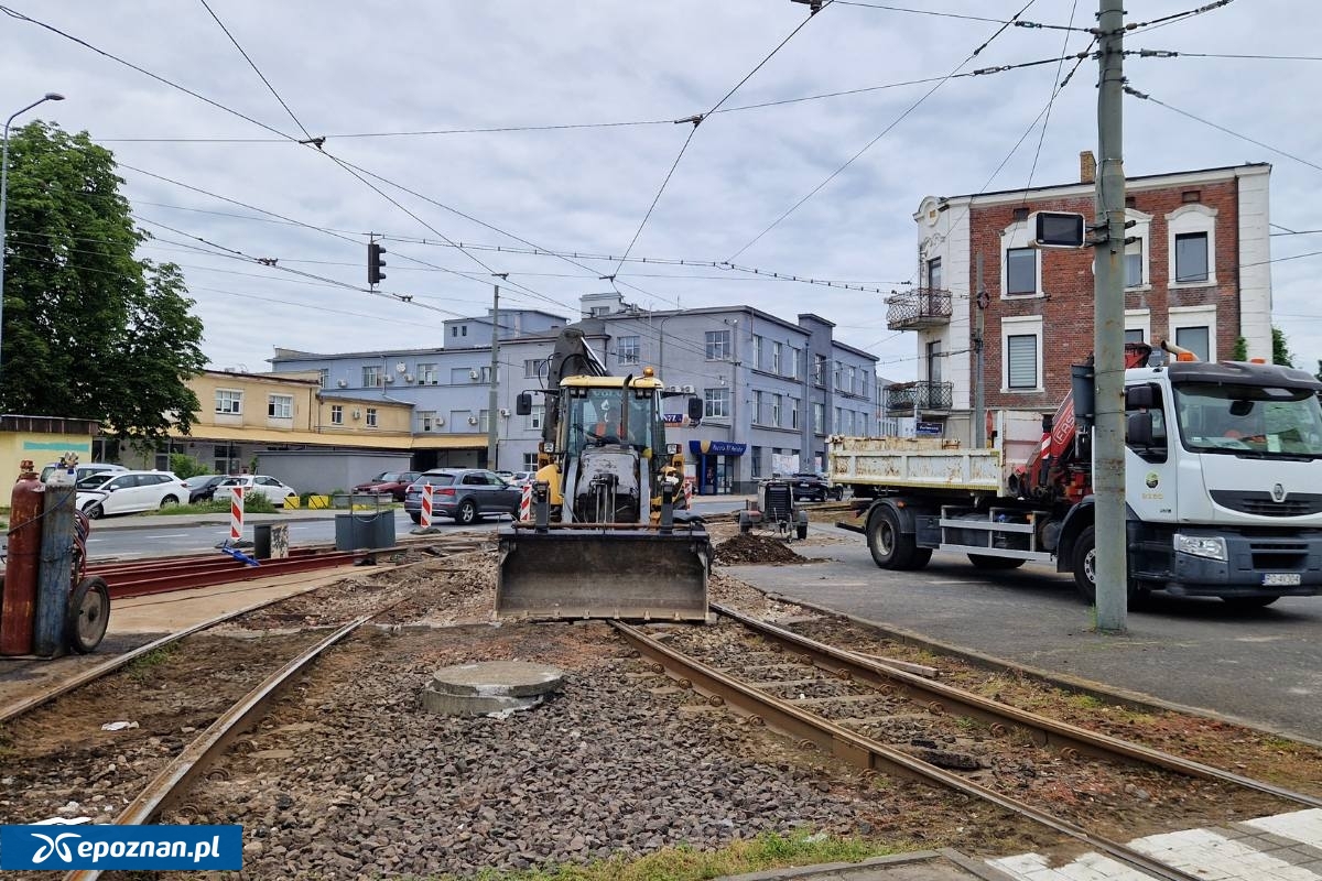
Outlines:
<svg viewBox="0 0 1322 881"><path fill-rule="evenodd" d="M303 650L296 658L267 676L262 684L225 711L182 753L176 756L169 765L153 777L147 787L139 793L137 798L130 802L128 807L115 818L115 826L141 826L151 820L178 790L206 767L210 759L215 758L234 737L245 730L247 722L253 721L258 713L266 709L295 674L319 658L327 649L401 602L403 600L397 600L371 614L354 618L321 642ZM78 869L65 874L65 881L93 881L99 877L100 869Z"/></svg>

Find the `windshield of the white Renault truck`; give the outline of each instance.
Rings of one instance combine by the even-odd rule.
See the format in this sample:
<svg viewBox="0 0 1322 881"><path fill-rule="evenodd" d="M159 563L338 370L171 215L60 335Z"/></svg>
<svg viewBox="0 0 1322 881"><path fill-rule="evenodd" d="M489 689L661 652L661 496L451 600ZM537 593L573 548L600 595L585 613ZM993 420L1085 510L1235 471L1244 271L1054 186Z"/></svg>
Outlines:
<svg viewBox="0 0 1322 881"><path fill-rule="evenodd" d="M1311 388L1181 383L1175 417L1195 452L1322 457L1322 407Z"/></svg>

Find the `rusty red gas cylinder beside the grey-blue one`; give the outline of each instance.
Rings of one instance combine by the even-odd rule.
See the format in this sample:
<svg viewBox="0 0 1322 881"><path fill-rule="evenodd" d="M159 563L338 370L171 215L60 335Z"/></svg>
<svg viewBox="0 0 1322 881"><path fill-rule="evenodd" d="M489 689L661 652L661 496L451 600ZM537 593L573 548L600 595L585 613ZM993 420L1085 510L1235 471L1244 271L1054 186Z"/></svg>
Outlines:
<svg viewBox="0 0 1322 881"><path fill-rule="evenodd" d="M0 655L32 652L45 489L32 462L22 462L9 501L9 549L4 567L4 596L0 601Z"/></svg>

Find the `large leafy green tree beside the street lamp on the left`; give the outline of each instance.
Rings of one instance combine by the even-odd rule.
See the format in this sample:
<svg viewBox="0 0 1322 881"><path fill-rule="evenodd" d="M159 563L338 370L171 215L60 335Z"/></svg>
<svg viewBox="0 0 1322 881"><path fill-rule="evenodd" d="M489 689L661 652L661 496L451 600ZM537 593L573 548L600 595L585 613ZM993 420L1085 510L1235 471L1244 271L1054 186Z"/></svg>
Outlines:
<svg viewBox="0 0 1322 881"><path fill-rule="evenodd" d="M0 407L148 440L192 427L206 358L178 267L135 258L122 184L86 132L11 133Z"/></svg>

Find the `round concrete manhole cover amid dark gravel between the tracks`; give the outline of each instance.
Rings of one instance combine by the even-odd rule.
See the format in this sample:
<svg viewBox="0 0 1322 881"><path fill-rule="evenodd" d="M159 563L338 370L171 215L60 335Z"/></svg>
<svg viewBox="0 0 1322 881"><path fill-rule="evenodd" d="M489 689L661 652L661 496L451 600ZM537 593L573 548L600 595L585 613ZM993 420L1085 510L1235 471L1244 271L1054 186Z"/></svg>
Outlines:
<svg viewBox="0 0 1322 881"><path fill-rule="evenodd" d="M447 716L509 715L542 703L564 684L564 671L526 660L443 667L423 688L422 705Z"/></svg>

